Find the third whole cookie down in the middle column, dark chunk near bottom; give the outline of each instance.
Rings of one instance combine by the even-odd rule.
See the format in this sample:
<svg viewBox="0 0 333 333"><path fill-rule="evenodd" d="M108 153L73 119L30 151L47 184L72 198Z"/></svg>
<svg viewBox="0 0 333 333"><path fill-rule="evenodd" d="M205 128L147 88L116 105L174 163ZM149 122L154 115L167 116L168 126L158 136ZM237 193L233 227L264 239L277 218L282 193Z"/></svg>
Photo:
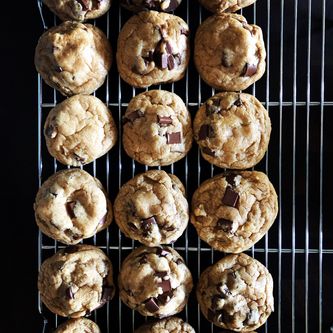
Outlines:
<svg viewBox="0 0 333 333"><path fill-rule="evenodd" d="M146 246L173 243L189 220L184 186L163 170L139 174L120 188L114 214L127 237Z"/></svg>

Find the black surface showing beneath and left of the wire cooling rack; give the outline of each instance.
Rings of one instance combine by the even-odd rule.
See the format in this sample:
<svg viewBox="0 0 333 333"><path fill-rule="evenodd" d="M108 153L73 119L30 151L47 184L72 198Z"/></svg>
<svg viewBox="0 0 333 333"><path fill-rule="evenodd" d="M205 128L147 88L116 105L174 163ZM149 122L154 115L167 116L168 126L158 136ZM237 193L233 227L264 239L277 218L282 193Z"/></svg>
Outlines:
<svg viewBox="0 0 333 333"><path fill-rule="evenodd" d="M191 0L190 0L191 1ZM192 41L194 39L194 31L198 25L198 5L195 0L192 0L193 5L190 7ZM259 5L260 2L260 5ZM294 2L284 1L284 64L283 64L283 101L292 101L293 96L293 31L294 31ZM178 8L175 14L185 18L185 3ZM306 101L307 97L307 33L308 33L308 4L307 1L298 1L298 43L297 43L297 101ZM257 5L257 23L263 28L265 40L266 22L265 13L267 2L258 0ZM115 1L111 10L111 25L118 26L118 3ZM280 20L281 20L281 2L271 1L271 40L270 40L270 89L269 100L279 101L280 97ZM42 25L37 12L35 1L31 1L30 5L26 4L22 8L22 12L29 13L25 17L27 24L13 24L13 18L5 17L5 25L2 30L4 42L1 43L1 60L3 74L5 80L2 81L2 115L4 116L2 123L1 139L4 145L4 154L2 156L2 165L4 166L3 177L5 178L5 189L1 191L1 202L3 210L6 212L2 223L9 227L9 230L2 235L5 251L3 258L5 261L2 272L5 272L5 279L8 279L7 284L3 286L5 291L5 306L8 314L4 316L2 328L7 331L19 332L27 330L31 332L42 331L42 321L37 313L37 228L34 223L32 203L38 187L37 178L37 75L33 66L33 52L38 36L42 33ZM326 21L326 54L325 54L325 100L333 100L333 4L327 1L327 21ZM322 26L322 1L312 1L312 33L311 33L311 101L320 101L320 79L321 79L321 26ZM31 13L31 14L30 14ZM129 17L129 13L122 11L124 21ZM260 13L263 13L260 15ZM46 14L48 16L48 14ZM244 11L244 15L249 22L253 21L253 9L248 8ZM207 16L207 12L203 11L203 16ZM48 16L50 17L50 16ZM105 24L105 20L99 22ZM115 50L117 29L112 29L111 39L112 46ZM330 43L328 43L330 41ZM197 102L198 79L197 73L191 63L189 74L190 79L190 102ZM113 63L110 73L111 77L116 74L116 65ZM115 102L118 100L117 79L112 79L110 88L110 100ZM185 98L185 83L184 80L175 85L175 92ZM170 89L170 85L163 88ZM101 98L103 91L100 90ZM128 100L128 96L132 93L132 89L122 83L123 101ZM251 88L249 92L252 92ZM202 101L211 95L211 89L202 84ZM266 75L256 85L256 95L261 101L267 100L266 95ZM62 97L58 96L59 100ZM116 114L117 108L113 110ZM123 110L124 111L124 110ZM192 115L196 112L196 107L191 107ZM309 247L318 249L318 222L319 222L319 157L320 157L320 107L313 106L308 110L308 120L310 125L309 131L309 169L306 169L306 125L307 125L307 108L297 107L296 109L296 179L295 179L295 224L296 224L296 248L302 249L305 246L305 219L306 219L306 172L309 174L308 188L308 203L309 203ZM269 108L272 119L272 137L270 142L269 154L267 160L261 162L256 169L266 170L266 161L268 165L269 176L280 194L281 210L278 220L272 227L269 234L269 247L276 248L279 245L279 224L282 230L282 247L291 248L292 246L292 137L293 137L293 121L294 113L292 106L283 107L271 106ZM328 184L332 184L332 176L329 169L328 158L332 155L332 112L333 106L324 108L324 146L323 146L323 242L324 248L333 248L333 227L332 227L332 204L330 202L331 193ZM45 114L44 114L45 117ZM282 125L280 128L280 124ZM281 133L281 137L280 137ZM281 140L280 140L281 139ZM281 144L282 159L281 167L282 174L279 179L279 146ZM112 161L111 166L117 167L118 154L114 150L110 154ZM48 157L47 152L43 153L45 168L43 179L52 173L52 160ZM122 152L123 160L123 177L122 182L131 178L131 164L129 158ZM104 159L100 159L98 177L105 184ZM197 148L194 148L189 154L189 168L196 170L197 166ZM210 177L210 166L201 160L202 174L201 181ZM91 172L91 166L87 167ZM111 169L112 170L112 169ZM142 171L142 167L137 164L136 172ZM169 170L166 168L166 170ZM215 173L219 172L215 168ZM175 173L184 179L184 161L175 164ZM188 182L188 193L191 195L197 187L197 175L190 173ZM110 192L111 198L114 197L118 188L118 175L115 171L111 175ZM281 188L279 183L281 182ZM6 190L7 189L7 190ZM110 228L111 235L117 235L115 224ZM101 235L101 243L102 241ZM45 242L47 243L47 239ZM99 239L99 238L98 238ZM50 242L49 242L50 243ZM52 243L52 242L51 242ZM114 236L112 245L118 244L117 236ZM183 246L184 237L181 238L176 246ZM201 243L202 246L206 246ZM124 239L122 245L131 245ZM197 246L197 239L194 229L189 227L189 245ZM264 247L264 241L258 244L258 247ZM45 251L44 256L52 255L53 251ZM123 257L129 252L124 251ZM180 252L185 256L185 252ZM214 254L214 261L221 257L221 254ZM265 263L265 256L261 253L256 253L255 257ZM111 258L115 264L115 270L118 270L118 257L116 252L111 253ZM291 332L291 255L285 253L281 255L281 290L278 288L279 276L279 256L277 253L269 254L269 269L275 280L275 305L276 311L270 317L268 323L269 332L278 332L279 314L281 315L281 329L283 332ZM194 280L197 280L198 258L196 253L190 255L188 264L194 275ZM203 252L201 255L201 270L210 264L211 252ZM333 282L332 274L333 255L323 256L323 332L329 332L329 326L333 323L332 318L332 290ZM304 326L304 288L305 288L305 255L296 254L296 309L295 323L296 332L305 332ZM309 255L309 332L318 332L318 269L319 261L317 254ZM279 291L281 293L281 313L278 309ZM8 301L7 301L8 300ZM195 296L192 293L190 298L189 321L197 328L198 318L195 307ZM111 302L110 311L112 325L110 332L118 332L118 299L117 297ZM6 311L7 313L7 311ZM104 328L104 315L106 309L102 308L98 311L98 323ZM131 327L132 313L125 306L122 306L123 328L127 323ZM52 316L46 311L46 315L50 319L50 327L53 324ZM130 319L130 320L128 320ZM135 315L136 323L142 322L142 317ZM106 330L104 330L106 332ZM125 331L125 330L124 330ZM126 332L131 329L127 328ZM207 325L201 318L201 332L210 331L210 325ZM218 330L216 330L217 332ZM257 330L263 332L262 329Z"/></svg>

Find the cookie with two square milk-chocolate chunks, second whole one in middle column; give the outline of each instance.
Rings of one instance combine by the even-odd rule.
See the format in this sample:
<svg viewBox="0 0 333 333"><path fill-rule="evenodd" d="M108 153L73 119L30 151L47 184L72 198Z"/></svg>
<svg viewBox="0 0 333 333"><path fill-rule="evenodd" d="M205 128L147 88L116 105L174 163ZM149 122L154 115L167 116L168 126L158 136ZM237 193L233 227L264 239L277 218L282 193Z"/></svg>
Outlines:
<svg viewBox="0 0 333 333"><path fill-rule="evenodd" d="M174 93L150 90L135 96L123 121L124 149L142 164L172 164L192 146L190 113Z"/></svg>

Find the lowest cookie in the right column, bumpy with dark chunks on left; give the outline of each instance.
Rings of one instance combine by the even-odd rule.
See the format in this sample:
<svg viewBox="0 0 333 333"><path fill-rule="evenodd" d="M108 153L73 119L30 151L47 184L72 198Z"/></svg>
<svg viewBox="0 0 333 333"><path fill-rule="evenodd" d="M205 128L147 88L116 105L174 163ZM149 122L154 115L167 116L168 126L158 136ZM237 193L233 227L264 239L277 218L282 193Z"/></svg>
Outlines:
<svg viewBox="0 0 333 333"><path fill-rule="evenodd" d="M271 274L244 253L228 255L208 267L200 276L196 293L210 322L236 332L258 328L274 311Z"/></svg>

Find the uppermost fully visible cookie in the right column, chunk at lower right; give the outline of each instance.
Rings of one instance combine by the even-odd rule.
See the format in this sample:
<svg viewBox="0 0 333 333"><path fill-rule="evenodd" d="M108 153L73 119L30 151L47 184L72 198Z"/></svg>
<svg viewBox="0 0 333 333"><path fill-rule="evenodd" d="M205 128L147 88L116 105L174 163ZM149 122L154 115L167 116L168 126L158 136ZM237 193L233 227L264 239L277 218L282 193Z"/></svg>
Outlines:
<svg viewBox="0 0 333 333"><path fill-rule="evenodd" d="M260 27L237 14L216 14L198 28L194 62L201 78L226 91L244 90L259 80L266 68Z"/></svg>

